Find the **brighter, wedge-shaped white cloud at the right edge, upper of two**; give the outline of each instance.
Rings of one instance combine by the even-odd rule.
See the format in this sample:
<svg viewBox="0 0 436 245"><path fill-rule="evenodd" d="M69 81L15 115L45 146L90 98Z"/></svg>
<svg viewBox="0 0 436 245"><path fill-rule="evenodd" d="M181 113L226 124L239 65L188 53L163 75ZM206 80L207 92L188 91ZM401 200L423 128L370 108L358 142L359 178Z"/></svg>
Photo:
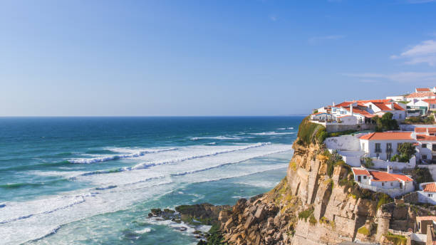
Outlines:
<svg viewBox="0 0 436 245"><path fill-rule="evenodd" d="M406 58L407 64L427 63L429 66L436 65L436 41L427 40L422 43L412 46L407 51L404 51L399 56L390 56L390 58Z"/></svg>

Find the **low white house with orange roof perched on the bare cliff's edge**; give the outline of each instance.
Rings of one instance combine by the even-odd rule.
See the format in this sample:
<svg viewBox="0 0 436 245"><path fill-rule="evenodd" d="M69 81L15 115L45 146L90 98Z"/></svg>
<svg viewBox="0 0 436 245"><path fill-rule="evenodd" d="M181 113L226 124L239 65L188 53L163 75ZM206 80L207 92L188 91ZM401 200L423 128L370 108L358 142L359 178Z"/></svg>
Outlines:
<svg viewBox="0 0 436 245"><path fill-rule="evenodd" d="M390 197L398 197L415 190L412 178L404 174L393 174L389 167L388 172L353 167L353 174L359 187L383 192Z"/></svg>

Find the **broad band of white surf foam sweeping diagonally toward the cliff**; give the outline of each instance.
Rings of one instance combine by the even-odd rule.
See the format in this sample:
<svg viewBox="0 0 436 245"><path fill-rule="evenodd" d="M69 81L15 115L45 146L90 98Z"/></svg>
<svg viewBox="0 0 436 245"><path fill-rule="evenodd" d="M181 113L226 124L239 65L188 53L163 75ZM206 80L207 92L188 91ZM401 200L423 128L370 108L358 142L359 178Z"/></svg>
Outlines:
<svg viewBox="0 0 436 245"><path fill-rule="evenodd" d="M53 230L57 231L59 226L72 221L125 209L142 200L160 198L181 185L286 168L286 163L246 160L289 150L291 145L269 143L197 145L145 155L141 160L160 164L132 167L131 171L78 175L74 181L90 183L93 187L28 202L2 203L6 206L0 212L0 236L7 244L21 244L53 234ZM194 198L202 199L201 196ZM20 236L16 236L17 230ZM58 236L58 233L53 236Z"/></svg>

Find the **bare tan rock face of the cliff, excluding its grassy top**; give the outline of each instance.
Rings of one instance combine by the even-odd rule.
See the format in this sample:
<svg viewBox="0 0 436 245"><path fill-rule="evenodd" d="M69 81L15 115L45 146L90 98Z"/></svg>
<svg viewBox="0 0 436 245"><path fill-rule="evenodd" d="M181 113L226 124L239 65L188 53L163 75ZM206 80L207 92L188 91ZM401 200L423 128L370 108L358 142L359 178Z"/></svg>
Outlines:
<svg viewBox="0 0 436 245"><path fill-rule="evenodd" d="M329 177L321 145L294 144L294 150L286 178L277 187L261 197L241 199L231 211L222 212L224 240L248 245L378 239L374 225L378 202L351 194L351 187L341 182L347 178L346 167L334 167Z"/></svg>

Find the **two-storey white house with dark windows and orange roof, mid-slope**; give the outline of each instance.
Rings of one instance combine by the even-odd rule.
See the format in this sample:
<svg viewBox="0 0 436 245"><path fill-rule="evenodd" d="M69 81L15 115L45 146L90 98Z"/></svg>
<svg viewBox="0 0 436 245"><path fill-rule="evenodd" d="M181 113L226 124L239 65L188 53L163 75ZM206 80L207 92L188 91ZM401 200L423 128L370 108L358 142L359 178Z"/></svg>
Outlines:
<svg viewBox="0 0 436 245"><path fill-rule="evenodd" d="M368 157L390 160L402 143L415 143L412 132L371 132L360 137L360 146Z"/></svg>

